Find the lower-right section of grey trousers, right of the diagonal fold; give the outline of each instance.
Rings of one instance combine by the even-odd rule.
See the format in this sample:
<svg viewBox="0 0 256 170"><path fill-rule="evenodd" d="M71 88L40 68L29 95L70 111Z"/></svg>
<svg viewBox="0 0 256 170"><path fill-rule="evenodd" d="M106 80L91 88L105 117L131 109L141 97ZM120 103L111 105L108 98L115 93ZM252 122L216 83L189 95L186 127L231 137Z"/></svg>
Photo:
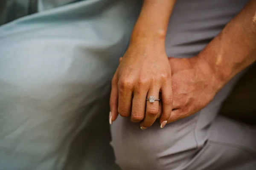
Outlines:
<svg viewBox="0 0 256 170"><path fill-rule="evenodd" d="M256 127L218 116L209 139L184 170L255 170Z"/></svg>

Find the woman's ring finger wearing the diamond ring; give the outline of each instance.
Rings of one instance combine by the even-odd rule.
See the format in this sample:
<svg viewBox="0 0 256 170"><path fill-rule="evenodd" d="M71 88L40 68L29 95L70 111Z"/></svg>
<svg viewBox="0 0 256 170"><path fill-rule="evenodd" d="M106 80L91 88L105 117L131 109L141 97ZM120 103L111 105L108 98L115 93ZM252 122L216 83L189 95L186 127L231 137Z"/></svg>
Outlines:
<svg viewBox="0 0 256 170"><path fill-rule="evenodd" d="M159 101L154 99L159 99L159 87L154 86L149 89L146 102L146 113L143 122L141 122L141 129L150 127L157 119L157 113L159 108ZM145 99L144 99L145 100ZM154 101L154 102L153 102Z"/></svg>

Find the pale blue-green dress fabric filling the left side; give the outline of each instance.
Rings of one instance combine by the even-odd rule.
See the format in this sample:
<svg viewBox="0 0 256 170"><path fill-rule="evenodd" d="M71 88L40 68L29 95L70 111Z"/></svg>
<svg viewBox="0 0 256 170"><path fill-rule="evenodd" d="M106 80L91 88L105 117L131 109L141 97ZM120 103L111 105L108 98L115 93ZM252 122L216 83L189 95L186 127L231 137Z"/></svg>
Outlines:
<svg viewBox="0 0 256 170"><path fill-rule="evenodd" d="M16 0L21 11L27 2ZM18 19L11 16L14 1L6 3L0 170L118 170L109 144L109 93L140 2L38 0L35 14L23 11Z"/></svg>

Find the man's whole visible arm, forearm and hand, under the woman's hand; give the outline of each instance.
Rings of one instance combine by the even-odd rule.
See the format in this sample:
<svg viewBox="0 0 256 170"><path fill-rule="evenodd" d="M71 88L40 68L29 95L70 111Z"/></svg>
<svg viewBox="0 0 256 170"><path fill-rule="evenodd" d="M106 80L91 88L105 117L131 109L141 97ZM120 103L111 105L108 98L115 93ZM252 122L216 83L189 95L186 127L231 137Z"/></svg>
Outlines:
<svg viewBox="0 0 256 170"><path fill-rule="evenodd" d="M256 1L250 0L198 57L169 58L174 109L169 123L200 111L230 79L256 61L255 27Z"/></svg>

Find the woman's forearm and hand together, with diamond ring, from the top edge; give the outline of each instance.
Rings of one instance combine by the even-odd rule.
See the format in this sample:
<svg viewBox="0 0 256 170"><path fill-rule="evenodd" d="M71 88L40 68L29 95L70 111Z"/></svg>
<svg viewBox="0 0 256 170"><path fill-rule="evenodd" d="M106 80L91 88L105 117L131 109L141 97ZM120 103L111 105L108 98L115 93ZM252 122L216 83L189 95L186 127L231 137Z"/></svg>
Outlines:
<svg viewBox="0 0 256 170"><path fill-rule="evenodd" d="M161 127L172 112L171 68L165 52L165 37L175 0L145 0L131 34L130 45L112 80L110 124L118 113L131 121L141 122L141 129L157 119L162 98ZM159 92L162 95L159 96Z"/></svg>

